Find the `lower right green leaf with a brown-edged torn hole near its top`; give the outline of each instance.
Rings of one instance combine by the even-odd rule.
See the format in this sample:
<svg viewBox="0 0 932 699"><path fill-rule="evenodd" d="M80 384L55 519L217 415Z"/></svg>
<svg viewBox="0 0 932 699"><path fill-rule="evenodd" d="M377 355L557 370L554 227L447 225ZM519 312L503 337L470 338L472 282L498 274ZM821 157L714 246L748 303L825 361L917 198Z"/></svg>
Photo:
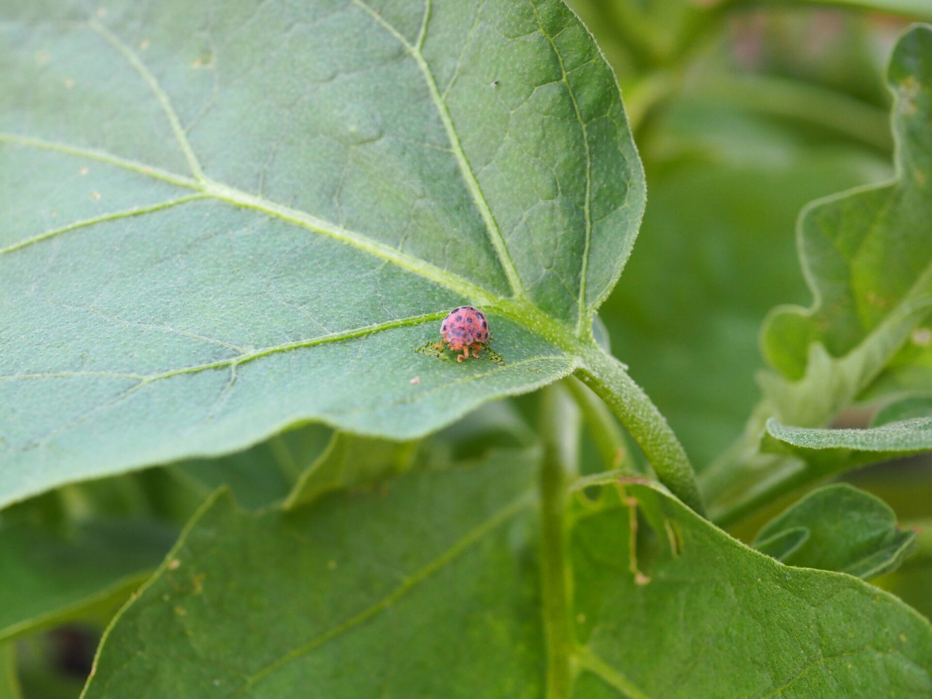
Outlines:
<svg viewBox="0 0 932 699"><path fill-rule="evenodd" d="M932 692L932 627L895 597L784 566L651 487L624 490L657 527L636 562L627 508L585 514L573 534L584 657L622 692L623 679L664 699Z"/></svg>

